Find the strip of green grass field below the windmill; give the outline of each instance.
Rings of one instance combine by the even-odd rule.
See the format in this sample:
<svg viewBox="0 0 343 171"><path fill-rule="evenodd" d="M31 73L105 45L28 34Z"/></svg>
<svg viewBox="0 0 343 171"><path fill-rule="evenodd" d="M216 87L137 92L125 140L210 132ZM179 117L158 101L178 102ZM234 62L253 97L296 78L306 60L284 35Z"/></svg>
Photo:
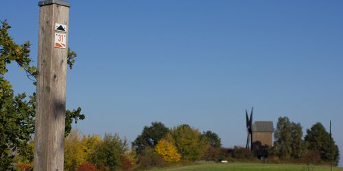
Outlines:
<svg viewBox="0 0 343 171"><path fill-rule="evenodd" d="M305 165L286 165L286 164L250 164L250 163L210 163L210 164L199 164L192 166L180 166L180 167L171 167L171 168L156 168L154 171L176 171L176 170L191 170L191 171L204 171L204 170L230 170L230 171L254 171L254 170L263 170L263 171L330 171L329 166L307 166ZM343 168L335 168L333 170L339 171Z"/></svg>

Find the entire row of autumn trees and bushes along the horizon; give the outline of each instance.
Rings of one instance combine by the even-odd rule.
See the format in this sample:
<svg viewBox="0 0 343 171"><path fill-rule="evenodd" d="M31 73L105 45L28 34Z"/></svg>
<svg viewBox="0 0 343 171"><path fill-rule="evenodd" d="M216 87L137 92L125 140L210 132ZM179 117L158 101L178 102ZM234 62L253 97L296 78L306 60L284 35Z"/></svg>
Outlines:
<svg viewBox="0 0 343 171"><path fill-rule="evenodd" d="M182 165L196 161L305 163L335 165L340 159L338 146L329 141L321 123L307 129L303 137L299 123L279 118L274 131L274 145L254 142L253 150L235 146L225 148L217 133L200 132L188 124L167 128L162 122L143 127L130 144L119 134L82 135L73 130L64 141L64 170L146 170ZM29 144L33 147L33 142ZM331 147L332 148L331 148ZM16 168L32 168L32 161L16 155Z"/></svg>

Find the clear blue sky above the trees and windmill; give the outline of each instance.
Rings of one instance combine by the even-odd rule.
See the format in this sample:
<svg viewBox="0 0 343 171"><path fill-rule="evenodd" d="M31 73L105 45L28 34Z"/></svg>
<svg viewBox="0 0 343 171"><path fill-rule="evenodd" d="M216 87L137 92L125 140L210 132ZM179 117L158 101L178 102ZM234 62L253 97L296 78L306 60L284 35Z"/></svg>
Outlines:
<svg viewBox="0 0 343 171"><path fill-rule="evenodd" d="M0 11L35 62L37 2L1 1ZM244 146L244 109L255 107L254 120L288 116L304 131L333 120L343 153L343 1L69 2L78 58L67 108L82 107L83 133L132 141L157 120ZM6 77L34 90L16 65Z"/></svg>

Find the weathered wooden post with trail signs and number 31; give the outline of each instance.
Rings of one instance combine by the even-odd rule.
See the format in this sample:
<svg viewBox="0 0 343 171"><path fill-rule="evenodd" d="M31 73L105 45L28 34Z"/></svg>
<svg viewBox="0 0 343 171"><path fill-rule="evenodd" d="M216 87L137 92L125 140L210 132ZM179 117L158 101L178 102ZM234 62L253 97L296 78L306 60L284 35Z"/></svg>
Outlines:
<svg viewBox="0 0 343 171"><path fill-rule="evenodd" d="M38 5L34 170L62 171L70 5L59 0L40 1ZM59 24L63 29L57 29Z"/></svg>

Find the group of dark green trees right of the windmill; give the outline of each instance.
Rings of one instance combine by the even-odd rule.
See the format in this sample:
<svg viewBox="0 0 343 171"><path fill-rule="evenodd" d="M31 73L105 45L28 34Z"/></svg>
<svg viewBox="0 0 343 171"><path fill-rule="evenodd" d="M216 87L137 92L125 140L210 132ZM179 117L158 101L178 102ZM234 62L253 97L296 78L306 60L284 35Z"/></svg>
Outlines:
<svg viewBox="0 0 343 171"><path fill-rule="evenodd" d="M333 137L325 130L322 123L317 122L307 129L303 137L303 127L300 123L290 122L289 118L281 117L274 131L274 146L270 153L283 161L301 161L305 163L333 163L337 166L340 160L340 150Z"/></svg>

